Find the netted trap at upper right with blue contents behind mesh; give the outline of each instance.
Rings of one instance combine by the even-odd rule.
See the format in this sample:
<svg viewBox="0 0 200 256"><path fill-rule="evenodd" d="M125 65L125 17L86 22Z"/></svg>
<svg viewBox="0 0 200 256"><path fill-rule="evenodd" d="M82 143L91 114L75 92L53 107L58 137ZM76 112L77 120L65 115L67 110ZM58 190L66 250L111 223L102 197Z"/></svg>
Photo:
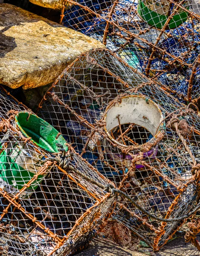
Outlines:
<svg viewBox="0 0 200 256"><path fill-rule="evenodd" d="M200 7L195 1L65 0L61 23L101 41L184 102L197 102Z"/></svg>

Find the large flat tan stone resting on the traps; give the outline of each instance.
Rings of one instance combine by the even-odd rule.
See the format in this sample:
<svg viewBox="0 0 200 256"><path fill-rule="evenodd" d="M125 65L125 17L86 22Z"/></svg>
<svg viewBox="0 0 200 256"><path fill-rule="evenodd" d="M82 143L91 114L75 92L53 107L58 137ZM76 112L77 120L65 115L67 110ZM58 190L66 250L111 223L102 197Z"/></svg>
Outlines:
<svg viewBox="0 0 200 256"><path fill-rule="evenodd" d="M0 4L0 83L23 89L49 84L81 52L104 47L58 23Z"/></svg>

